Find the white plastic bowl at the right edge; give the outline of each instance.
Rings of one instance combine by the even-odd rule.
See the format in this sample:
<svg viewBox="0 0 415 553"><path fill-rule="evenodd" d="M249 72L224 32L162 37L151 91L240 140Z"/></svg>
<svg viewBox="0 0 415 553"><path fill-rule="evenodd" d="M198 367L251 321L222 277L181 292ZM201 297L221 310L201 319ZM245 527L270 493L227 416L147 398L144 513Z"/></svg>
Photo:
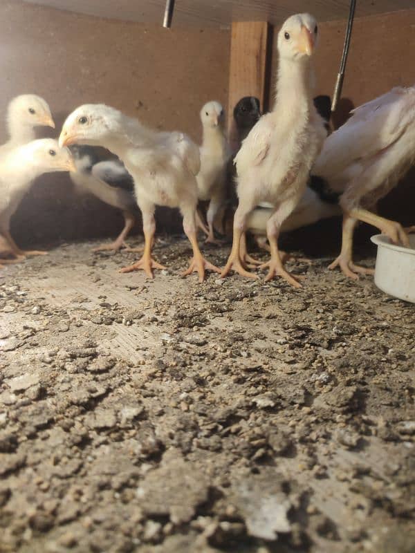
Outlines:
<svg viewBox="0 0 415 553"><path fill-rule="evenodd" d="M396 246L385 234L371 241L378 246L375 284L382 292L415 303L415 234L409 234L411 247Z"/></svg>

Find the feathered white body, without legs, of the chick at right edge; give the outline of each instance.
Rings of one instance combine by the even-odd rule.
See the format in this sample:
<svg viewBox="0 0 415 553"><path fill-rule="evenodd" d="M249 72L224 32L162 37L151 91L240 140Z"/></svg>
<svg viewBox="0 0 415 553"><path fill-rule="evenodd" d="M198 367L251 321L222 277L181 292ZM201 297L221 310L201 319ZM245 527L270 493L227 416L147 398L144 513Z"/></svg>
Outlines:
<svg viewBox="0 0 415 553"><path fill-rule="evenodd" d="M327 138L313 174L344 192L347 209L372 206L415 161L415 87L393 88L352 111Z"/></svg>

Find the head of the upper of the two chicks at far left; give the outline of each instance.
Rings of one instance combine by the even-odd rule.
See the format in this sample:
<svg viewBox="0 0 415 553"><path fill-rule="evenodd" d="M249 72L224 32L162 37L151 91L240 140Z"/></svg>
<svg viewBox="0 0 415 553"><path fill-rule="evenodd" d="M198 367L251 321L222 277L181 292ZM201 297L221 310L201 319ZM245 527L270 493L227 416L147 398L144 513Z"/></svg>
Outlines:
<svg viewBox="0 0 415 553"><path fill-rule="evenodd" d="M8 106L8 120L28 126L51 126L55 129L48 102L35 94L16 96Z"/></svg>

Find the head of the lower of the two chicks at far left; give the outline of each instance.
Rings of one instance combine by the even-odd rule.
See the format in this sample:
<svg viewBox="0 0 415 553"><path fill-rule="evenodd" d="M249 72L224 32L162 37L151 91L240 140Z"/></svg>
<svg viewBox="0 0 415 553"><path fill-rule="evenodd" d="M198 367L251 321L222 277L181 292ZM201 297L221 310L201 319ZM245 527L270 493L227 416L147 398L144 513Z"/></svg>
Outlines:
<svg viewBox="0 0 415 553"><path fill-rule="evenodd" d="M59 147L57 140L53 138L34 140L27 145L26 151L35 165L42 168L43 173L76 170L71 151Z"/></svg>

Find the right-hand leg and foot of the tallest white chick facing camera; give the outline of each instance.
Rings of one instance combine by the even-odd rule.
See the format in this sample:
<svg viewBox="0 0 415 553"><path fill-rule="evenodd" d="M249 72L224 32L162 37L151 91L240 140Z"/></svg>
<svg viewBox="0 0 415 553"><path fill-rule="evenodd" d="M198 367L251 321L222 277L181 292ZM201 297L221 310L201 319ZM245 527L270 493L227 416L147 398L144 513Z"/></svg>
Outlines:
<svg viewBox="0 0 415 553"><path fill-rule="evenodd" d="M301 288L301 284L297 281L297 279L295 279L292 274L284 269L283 261L278 250L278 237L282 223L284 223L286 218L293 211L295 203L295 198L282 203L282 205L277 207L275 212L268 219L268 222L266 223L266 235L268 238L268 242L270 243L271 259L270 261L268 261L268 263L260 265L259 268L268 268L268 274L265 277L266 282L278 276L282 277L284 280L294 286L294 288Z"/></svg>

